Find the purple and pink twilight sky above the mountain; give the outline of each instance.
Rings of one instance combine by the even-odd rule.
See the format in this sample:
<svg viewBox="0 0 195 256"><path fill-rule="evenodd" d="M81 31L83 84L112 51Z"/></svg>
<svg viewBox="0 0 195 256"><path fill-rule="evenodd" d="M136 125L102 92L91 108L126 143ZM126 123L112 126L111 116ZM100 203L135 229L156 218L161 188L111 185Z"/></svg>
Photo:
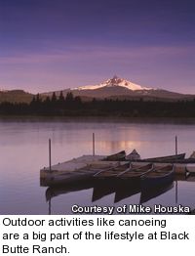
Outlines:
<svg viewBox="0 0 195 256"><path fill-rule="evenodd" d="M193 0L0 0L0 89L47 92L117 75L195 94Z"/></svg>

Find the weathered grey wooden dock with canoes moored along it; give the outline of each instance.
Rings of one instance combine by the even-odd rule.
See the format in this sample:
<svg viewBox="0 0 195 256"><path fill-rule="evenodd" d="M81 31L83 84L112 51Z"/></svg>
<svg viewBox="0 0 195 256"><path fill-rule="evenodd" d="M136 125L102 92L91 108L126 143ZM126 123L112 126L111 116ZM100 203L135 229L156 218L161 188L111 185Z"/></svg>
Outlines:
<svg viewBox="0 0 195 256"><path fill-rule="evenodd" d="M88 181L99 171L112 173L110 170L118 169L120 166L127 165L131 161L108 161L104 155L83 155L73 158L69 161L45 167L40 170L40 184L45 187L54 187L59 185L68 185L70 183L79 183ZM151 163L155 166L165 166L169 163ZM133 166L147 164L147 162L131 162ZM174 163L176 175L183 177L195 175L195 164ZM117 168L116 168L117 167ZM131 171L131 168L130 168ZM106 175L105 175L106 176ZM110 177L113 176L110 174ZM194 179L194 178L193 178ZM110 179L111 181L111 179Z"/></svg>

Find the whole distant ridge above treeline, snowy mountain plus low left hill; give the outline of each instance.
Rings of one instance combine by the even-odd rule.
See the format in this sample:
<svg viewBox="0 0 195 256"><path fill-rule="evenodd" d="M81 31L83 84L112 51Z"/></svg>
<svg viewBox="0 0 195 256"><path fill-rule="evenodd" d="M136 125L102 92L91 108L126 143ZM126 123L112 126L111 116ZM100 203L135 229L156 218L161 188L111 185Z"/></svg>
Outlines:
<svg viewBox="0 0 195 256"><path fill-rule="evenodd" d="M70 87L72 85L70 84ZM60 91L52 91L41 93L40 98L52 97L53 93L57 97L62 92L65 97L67 93L72 93L74 97L79 96L83 101L92 101L94 98L98 100L112 99L112 100L144 100L144 101L178 101L178 100L194 100L195 95L180 94L163 89L156 89L151 87L144 87L133 83L127 79L120 78L114 75L96 85L86 85L76 88L62 89ZM29 103L34 95L23 90L0 90L0 103Z"/></svg>

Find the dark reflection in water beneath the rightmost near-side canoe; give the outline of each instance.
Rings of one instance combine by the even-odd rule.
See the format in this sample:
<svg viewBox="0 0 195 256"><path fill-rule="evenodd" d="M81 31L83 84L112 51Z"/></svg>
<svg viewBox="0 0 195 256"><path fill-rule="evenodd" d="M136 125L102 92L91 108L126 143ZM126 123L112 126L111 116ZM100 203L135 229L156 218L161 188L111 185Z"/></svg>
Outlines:
<svg viewBox="0 0 195 256"><path fill-rule="evenodd" d="M140 201L139 203L144 203L147 202L165 192L169 192L170 190L172 190L174 188L174 182L168 183L164 186L160 186L160 187L155 187L155 188L151 188L151 189L143 189L141 188L141 192L140 192Z"/></svg>

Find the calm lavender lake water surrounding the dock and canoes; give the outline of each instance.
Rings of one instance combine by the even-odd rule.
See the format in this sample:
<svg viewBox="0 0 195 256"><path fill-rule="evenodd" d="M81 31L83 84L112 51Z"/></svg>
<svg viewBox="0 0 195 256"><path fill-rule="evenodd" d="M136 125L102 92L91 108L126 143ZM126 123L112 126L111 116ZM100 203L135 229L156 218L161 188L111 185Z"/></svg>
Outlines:
<svg viewBox="0 0 195 256"><path fill-rule="evenodd" d="M114 203L115 193L104 192L92 202L93 188L80 191L47 191L39 185L39 170L48 166L48 139L52 139L52 163L92 153L92 133L96 133L96 153L110 154L137 149L141 157L175 153L187 156L195 149L195 124L133 123L127 120L0 120L0 214L70 214L71 205L114 205L139 203L140 193ZM47 191L47 192L46 192ZM107 194L106 194L107 193ZM51 205L47 196L54 196ZM94 195L93 195L94 194ZM56 196L55 196L56 195ZM103 195L103 192L102 194ZM126 194L126 196L128 196ZM119 196L120 197L120 196ZM176 182L167 192L144 205L183 204L195 207L195 183Z"/></svg>

